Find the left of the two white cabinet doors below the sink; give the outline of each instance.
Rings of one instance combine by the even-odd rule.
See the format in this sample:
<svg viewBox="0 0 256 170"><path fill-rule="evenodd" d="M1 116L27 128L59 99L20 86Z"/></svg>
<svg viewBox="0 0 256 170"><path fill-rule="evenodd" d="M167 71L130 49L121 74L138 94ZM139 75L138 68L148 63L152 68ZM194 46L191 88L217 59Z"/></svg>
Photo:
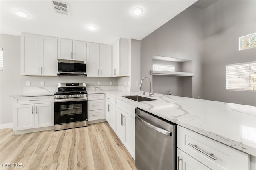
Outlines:
<svg viewBox="0 0 256 170"><path fill-rule="evenodd" d="M124 142L124 126L125 126L125 113L116 108L116 134L119 139Z"/></svg>

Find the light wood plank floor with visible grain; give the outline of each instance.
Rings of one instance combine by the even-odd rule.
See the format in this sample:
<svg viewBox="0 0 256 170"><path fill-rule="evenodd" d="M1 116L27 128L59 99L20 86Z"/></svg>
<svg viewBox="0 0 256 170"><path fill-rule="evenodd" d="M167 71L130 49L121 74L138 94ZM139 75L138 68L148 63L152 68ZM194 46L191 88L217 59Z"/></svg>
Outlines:
<svg viewBox="0 0 256 170"><path fill-rule="evenodd" d="M22 163L22 168L4 168ZM68 130L15 135L0 130L1 169L137 170L135 161L107 122Z"/></svg>

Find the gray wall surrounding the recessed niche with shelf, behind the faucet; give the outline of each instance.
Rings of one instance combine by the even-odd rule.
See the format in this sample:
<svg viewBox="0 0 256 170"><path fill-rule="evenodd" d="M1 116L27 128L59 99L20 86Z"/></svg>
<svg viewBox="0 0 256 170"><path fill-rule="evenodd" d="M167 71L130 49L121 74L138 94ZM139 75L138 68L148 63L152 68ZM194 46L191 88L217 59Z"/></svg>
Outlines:
<svg viewBox="0 0 256 170"><path fill-rule="evenodd" d="M190 97L197 98L198 96L202 96L202 19L203 11L197 7L190 6L150 35L143 38L141 40L141 77L148 76L152 79L152 75L150 75L150 70L152 70L152 55L192 60L192 71L195 73L195 76L186 79L184 82L189 84ZM174 81L178 78L172 79ZM168 80L163 82L161 77L154 76L154 92L159 91L163 93L162 91L164 89L170 89L172 86L173 94L182 95L182 91L180 91L182 87L180 87L179 81L173 81L168 78ZM165 87L159 87L159 85L163 85L164 83L166 83ZM192 87L190 87L191 84ZM142 91L148 91L148 83L144 83ZM186 91L187 89L184 90L184 93Z"/></svg>

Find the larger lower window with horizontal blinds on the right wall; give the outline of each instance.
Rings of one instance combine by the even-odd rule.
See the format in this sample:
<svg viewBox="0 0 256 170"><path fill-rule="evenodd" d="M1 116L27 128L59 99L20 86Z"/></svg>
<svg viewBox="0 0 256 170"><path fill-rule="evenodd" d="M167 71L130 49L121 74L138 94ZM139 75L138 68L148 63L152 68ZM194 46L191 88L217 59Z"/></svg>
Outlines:
<svg viewBox="0 0 256 170"><path fill-rule="evenodd" d="M226 65L226 90L256 91L256 62Z"/></svg>

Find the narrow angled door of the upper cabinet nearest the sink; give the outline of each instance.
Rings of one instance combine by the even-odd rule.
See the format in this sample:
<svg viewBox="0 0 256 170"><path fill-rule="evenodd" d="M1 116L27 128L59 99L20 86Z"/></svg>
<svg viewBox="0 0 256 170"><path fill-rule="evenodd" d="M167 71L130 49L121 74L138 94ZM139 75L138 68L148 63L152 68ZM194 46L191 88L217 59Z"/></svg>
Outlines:
<svg viewBox="0 0 256 170"><path fill-rule="evenodd" d="M113 77L120 75L120 39L113 44Z"/></svg>

